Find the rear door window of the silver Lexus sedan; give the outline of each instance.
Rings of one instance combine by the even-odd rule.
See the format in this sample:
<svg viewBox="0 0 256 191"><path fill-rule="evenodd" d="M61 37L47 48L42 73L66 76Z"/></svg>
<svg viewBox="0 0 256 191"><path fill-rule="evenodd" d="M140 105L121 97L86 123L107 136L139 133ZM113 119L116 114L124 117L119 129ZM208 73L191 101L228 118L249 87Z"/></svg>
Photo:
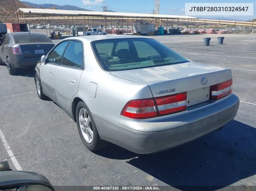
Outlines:
<svg viewBox="0 0 256 191"><path fill-rule="evenodd" d="M61 65L81 68L83 58L82 43L78 41L70 41L63 55Z"/></svg>

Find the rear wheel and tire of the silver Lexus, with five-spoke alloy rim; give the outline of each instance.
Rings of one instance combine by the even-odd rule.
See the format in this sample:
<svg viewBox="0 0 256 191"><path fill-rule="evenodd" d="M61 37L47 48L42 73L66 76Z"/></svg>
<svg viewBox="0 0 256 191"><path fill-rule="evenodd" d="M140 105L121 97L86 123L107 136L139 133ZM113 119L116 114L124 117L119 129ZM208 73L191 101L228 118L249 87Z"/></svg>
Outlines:
<svg viewBox="0 0 256 191"><path fill-rule="evenodd" d="M104 141L100 138L91 112L87 105L82 101L78 102L76 106L76 123L80 138L84 143L85 147L88 148L88 150L92 152L98 151L108 145L109 142Z"/></svg>

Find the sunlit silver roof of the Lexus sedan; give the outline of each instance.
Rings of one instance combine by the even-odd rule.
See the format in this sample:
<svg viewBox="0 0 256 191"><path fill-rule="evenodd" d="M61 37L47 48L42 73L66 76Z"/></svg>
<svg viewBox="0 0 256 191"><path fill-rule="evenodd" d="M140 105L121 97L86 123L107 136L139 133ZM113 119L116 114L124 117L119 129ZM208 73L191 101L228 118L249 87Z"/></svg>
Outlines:
<svg viewBox="0 0 256 191"><path fill-rule="evenodd" d="M92 42L95 40L107 40L107 39L125 39L125 38L147 38L143 36L137 36L137 35L90 35L90 36L81 36L81 37L69 37L68 39L76 39L76 40L82 40L87 42Z"/></svg>

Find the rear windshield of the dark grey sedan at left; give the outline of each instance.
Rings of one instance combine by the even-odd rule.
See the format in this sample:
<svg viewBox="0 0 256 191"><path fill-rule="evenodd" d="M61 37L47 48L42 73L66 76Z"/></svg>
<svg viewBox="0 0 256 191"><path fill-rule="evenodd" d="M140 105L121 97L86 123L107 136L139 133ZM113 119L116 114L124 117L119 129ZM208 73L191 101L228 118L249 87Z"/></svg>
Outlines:
<svg viewBox="0 0 256 191"><path fill-rule="evenodd" d="M45 35L13 35L16 43L49 43L52 42Z"/></svg>

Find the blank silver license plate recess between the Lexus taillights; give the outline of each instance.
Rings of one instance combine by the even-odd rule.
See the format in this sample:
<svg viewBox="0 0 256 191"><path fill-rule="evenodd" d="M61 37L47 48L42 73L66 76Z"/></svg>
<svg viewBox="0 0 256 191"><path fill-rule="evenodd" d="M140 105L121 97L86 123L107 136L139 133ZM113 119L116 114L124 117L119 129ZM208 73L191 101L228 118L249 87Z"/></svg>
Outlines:
<svg viewBox="0 0 256 191"><path fill-rule="evenodd" d="M210 86L191 90L187 92L187 107L208 101L210 97Z"/></svg>

